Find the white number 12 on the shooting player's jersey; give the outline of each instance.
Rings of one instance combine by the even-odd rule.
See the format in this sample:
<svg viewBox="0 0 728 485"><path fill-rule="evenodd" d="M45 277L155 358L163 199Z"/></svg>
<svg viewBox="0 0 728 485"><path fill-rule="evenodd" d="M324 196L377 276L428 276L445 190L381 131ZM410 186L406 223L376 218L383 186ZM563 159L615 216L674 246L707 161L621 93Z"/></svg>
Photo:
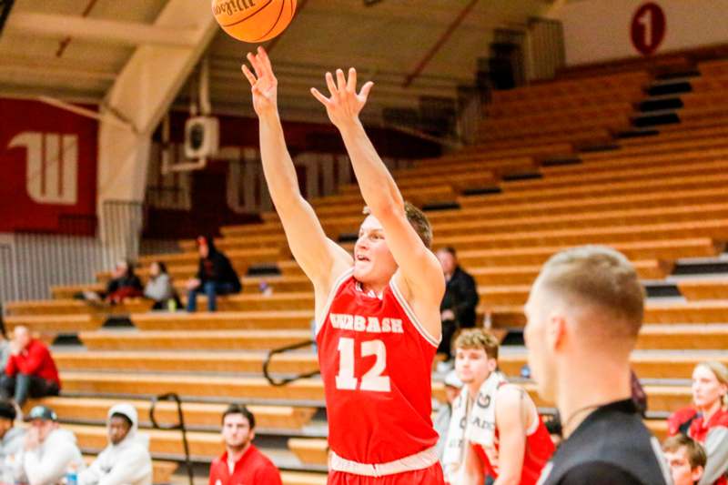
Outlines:
<svg viewBox="0 0 728 485"><path fill-rule="evenodd" d="M374 365L359 379L354 377L354 339L339 338L339 375L336 377L337 389L373 390L389 392L389 377L382 376L387 369L387 347L381 340L361 342L361 357L376 356Z"/></svg>

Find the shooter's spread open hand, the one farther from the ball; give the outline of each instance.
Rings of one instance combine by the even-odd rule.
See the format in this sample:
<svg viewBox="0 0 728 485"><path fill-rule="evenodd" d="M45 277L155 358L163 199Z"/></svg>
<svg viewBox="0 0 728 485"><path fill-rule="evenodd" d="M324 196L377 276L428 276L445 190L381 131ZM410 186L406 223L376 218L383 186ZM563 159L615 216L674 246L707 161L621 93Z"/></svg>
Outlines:
<svg viewBox="0 0 728 485"><path fill-rule="evenodd" d="M326 84L329 86L329 97L323 96L315 87L311 88L311 94L326 106L326 113L331 123L340 129L348 123L357 121L361 109L367 104L369 91L374 83L371 81L365 83L357 93L357 70L351 67L349 79L344 76L344 71L341 69L336 71L336 82L331 73L326 73Z"/></svg>

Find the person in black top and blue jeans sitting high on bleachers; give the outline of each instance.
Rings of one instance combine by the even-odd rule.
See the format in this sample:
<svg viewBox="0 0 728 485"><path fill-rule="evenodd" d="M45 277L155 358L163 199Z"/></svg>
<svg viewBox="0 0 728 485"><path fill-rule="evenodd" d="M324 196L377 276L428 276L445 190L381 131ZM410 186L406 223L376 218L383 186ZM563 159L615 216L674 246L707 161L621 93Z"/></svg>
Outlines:
<svg viewBox="0 0 728 485"><path fill-rule="evenodd" d="M217 310L217 295L239 293L240 278L230 260L215 248L212 237L197 237L197 275L187 281L187 311L197 310L197 295L207 296L207 311Z"/></svg>

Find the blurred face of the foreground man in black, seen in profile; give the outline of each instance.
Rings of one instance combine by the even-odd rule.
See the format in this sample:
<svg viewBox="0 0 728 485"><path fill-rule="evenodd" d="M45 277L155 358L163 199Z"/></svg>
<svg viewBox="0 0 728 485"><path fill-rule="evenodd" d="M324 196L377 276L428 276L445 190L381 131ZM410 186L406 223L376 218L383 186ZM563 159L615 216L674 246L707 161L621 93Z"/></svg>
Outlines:
<svg viewBox="0 0 728 485"><path fill-rule="evenodd" d="M550 308L544 298L543 291L538 282L531 288L531 295L526 303L526 328L523 329L523 339L528 348L528 362L531 377L536 382L536 389L543 399L553 401L554 391L554 361L548 339L548 320Z"/></svg>

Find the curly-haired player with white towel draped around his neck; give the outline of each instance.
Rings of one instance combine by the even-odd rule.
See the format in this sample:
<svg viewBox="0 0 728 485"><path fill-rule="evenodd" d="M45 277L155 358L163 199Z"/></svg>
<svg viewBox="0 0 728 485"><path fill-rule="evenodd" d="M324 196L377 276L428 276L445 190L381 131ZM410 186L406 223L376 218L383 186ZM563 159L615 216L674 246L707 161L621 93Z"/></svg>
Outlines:
<svg viewBox="0 0 728 485"><path fill-rule="evenodd" d="M536 405L498 371L498 339L467 328L455 340L455 371L463 383L452 405L442 458L450 485L534 485L553 454Z"/></svg>

